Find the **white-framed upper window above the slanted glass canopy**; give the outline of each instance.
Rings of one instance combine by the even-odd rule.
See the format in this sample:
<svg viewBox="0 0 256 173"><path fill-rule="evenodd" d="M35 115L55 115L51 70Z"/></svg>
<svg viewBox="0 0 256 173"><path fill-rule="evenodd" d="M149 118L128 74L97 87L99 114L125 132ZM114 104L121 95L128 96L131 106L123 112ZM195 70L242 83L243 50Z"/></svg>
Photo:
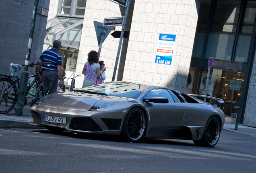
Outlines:
<svg viewBox="0 0 256 173"><path fill-rule="evenodd" d="M59 0L57 16L84 18L86 0Z"/></svg>

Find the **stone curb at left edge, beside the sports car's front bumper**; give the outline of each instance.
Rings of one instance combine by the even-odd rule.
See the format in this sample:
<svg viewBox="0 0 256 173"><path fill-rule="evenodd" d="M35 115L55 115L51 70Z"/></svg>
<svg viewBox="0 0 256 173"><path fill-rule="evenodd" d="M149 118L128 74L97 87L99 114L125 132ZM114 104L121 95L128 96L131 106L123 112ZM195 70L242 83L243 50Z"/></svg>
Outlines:
<svg viewBox="0 0 256 173"><path fill-rule="evenodd" d="M14 120L0 120L1 129L45 129L45 127L36 127L28 125L30 121L14 121Z"/></svg>

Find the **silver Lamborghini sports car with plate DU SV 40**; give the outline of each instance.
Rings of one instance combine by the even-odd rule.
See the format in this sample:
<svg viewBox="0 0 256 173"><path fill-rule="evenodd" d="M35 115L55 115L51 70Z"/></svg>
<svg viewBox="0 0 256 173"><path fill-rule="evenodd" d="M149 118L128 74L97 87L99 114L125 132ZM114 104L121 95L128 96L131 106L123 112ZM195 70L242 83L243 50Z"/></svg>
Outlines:
<svg viewBox="0 0 256 173"><path fill-rule="evenodd" d="M31 107L34 126L52 131L193 140L214 147L223 111L195 97L159 86L105 82L73 92L47 95Z"/></svg>

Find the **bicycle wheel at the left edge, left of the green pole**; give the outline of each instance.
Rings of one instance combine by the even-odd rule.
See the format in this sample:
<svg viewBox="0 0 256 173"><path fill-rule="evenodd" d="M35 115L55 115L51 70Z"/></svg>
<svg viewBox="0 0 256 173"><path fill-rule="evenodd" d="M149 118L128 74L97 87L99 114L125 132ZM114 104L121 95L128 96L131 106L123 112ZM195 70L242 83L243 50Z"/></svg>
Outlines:
<svg viewBox="0 0 256 173"><path fill-rule="evenodd" d="M0 113L10 112L16 105L18 89L9 78L0 78Z"/></svg>

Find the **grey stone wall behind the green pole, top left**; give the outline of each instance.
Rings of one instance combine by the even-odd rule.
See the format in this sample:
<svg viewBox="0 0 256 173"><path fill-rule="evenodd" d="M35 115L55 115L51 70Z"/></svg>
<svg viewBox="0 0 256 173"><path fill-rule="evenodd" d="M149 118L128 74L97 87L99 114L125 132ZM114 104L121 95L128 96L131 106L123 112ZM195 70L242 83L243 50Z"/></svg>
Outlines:
<svg viewBox="0 0 256 173"><path fill-rule="evenodd" d="M10 75L10 63L25 64L34 2L34 0L0 1L0 74ZM49 8L49 3L50 0L40 0L39 6ZM46 21L47 17L37 14L30 62L37 62L42 52ZM30 68L29 72L31 72Z"/></svg>

